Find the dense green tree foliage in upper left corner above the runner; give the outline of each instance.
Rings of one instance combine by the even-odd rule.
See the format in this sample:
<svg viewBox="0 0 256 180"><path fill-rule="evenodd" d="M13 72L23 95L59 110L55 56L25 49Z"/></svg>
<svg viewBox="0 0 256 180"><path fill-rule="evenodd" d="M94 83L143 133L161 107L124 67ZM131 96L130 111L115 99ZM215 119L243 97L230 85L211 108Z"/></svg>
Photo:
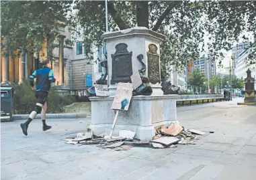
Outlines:
<svg viewBox="0 0 256 180"><path fill-rule="evenodd" d="M1 39L7 39L7 52L39 52L47 41L52 54L60 23L65 21L69 1L1 1Z"/></svg>

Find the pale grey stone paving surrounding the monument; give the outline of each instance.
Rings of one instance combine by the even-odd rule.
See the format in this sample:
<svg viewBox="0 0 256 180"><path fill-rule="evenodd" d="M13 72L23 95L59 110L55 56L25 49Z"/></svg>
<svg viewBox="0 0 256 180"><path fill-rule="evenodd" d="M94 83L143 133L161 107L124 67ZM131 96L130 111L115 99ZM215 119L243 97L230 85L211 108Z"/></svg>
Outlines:
<svg viewBox="0 0 256 180"><path fill-rule="evenodd" d="M214 133L171 149L113 151L61 141L83 132L89 118L48 120L50 132L34 120L28 137L19 129L22 121L1 122L1 179L254 180L256 107L237 106L239 100L177 108L182 126Z"/></svg>

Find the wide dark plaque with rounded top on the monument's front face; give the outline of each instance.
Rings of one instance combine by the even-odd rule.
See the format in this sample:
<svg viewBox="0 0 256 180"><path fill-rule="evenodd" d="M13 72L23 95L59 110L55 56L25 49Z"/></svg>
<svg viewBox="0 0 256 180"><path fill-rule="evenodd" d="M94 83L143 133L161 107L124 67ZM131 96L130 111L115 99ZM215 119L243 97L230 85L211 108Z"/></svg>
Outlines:
<svg viewBox="0 0 256 180"><path fill-rule="evenodd" d="M112 80L111 84L118 82L131 82L132 52L128 52L126 43L118 43L116 52L112 54Z"/></svg>

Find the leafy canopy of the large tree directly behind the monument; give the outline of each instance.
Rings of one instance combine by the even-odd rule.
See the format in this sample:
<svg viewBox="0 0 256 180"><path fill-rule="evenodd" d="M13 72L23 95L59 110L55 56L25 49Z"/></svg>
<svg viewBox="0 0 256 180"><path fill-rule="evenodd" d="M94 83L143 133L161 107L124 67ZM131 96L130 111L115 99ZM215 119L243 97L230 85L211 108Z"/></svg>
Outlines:
<svg viewBox="0 0 256 180"><path fill-rule="evenodd" d="M77 16L73 20L83 25L85 41L101 44L105 1L79 1L74 8ZM214 58L221 57L220 50L230 50L243 31L253 33L256 39L255 8L255 1L110 1L108 15L112 31L138 25L167 35L161 44L165 69L168 62L182 68L187 59L197 58L204 48ZM207 35L210 41L204 44ZM243 39L248 41L246 36Z"/></svg>

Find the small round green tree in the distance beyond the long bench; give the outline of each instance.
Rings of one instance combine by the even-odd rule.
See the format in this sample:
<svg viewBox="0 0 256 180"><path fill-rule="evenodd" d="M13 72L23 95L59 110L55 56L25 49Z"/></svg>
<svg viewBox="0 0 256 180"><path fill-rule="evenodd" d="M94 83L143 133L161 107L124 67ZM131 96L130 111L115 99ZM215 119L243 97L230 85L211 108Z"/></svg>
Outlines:
<svg viewBox="0 0 256 180"><path fill-rule="evenodd" d="M195 88L202 88L204 86L204 82L206 82L206 78L204 73L201 72L200 68L196 68L192 72L192 77L189 79L188 83L190 86L194 86L194 92L196 93Z"/></svg>

